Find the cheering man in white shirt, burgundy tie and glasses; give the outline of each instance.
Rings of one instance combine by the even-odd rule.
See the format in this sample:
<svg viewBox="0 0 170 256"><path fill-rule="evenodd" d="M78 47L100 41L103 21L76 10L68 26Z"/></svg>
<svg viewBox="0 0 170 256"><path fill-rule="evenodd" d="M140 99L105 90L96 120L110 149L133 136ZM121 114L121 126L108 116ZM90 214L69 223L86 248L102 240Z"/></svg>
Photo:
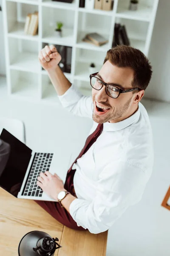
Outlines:
<svg viewBox="0 0 170 256"><path fill-rule="evenodd" d="M152 131L140 103L152 67L138 49L109 49L101 70L91 75L92 97L86 97L60 70L61 56L53 45L40 51L39 60L62 106L75 115L92 116L94 125L65 185L56 174L38 177L37 184L57 201L62 198L60 203L36 202L68 227L104 232L140 201L152 172Z"/></svg>

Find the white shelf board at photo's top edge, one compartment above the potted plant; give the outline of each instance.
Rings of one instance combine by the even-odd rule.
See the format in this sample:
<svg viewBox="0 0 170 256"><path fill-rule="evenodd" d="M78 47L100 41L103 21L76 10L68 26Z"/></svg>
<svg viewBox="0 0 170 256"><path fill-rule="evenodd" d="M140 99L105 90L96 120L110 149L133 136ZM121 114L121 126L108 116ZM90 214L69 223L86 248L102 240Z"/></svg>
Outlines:
<svg viewBox="0 0 170 256"><path fill-rule="evenodd" d="M57 1L51 1L51 0L43 0L42 6L59 8L59 9L67 9L67 10L75 10L76 3L75 1L73 3L64 3L64 2L57 2Z"/></svg>

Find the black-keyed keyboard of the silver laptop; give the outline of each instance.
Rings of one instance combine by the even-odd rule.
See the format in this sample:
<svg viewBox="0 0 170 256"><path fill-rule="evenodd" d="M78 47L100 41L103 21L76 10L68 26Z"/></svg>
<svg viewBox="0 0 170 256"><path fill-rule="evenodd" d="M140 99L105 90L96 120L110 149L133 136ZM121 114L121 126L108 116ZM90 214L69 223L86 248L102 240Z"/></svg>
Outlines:
<svg viewBox="0 0 170 256"><path fill-rule="evenodd" d="M37 186L37 177L41 172L49 171L53 153L36 153L31 166L23 195L41 197L43 190Z"/></svg>

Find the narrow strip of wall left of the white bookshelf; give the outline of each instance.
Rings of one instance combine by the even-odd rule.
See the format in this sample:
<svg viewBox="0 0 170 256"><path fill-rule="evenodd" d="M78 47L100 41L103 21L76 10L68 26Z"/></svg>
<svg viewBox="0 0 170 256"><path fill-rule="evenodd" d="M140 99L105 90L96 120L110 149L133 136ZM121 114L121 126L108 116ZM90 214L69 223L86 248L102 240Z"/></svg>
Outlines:
<svg viewBox="0 0 170 256"><path fill-rule="evenodd" d="M2 7L2 0L0 0L0 6ZM4 49L4 37L3 37L3 13L0 12L0 75L6 73L5 63L5 49Z"/></svg>

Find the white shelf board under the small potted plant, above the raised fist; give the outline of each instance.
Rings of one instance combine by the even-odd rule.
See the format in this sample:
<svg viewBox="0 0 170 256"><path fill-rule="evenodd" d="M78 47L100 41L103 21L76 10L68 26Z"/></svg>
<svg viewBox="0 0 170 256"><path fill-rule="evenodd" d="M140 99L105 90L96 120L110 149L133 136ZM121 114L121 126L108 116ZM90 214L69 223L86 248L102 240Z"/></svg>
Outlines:
<svg viewBox="0 0 170 256"><path fill-rule="evenodd" d="M51 29L52 30L52 29ZM73 46L74 45L74 36L73 29L62 29L62 37L59 38L55 35L55 32L52 30L50 32L46 32L42 38L43 43L48 44L59 44L65 46Z"/></svg>

